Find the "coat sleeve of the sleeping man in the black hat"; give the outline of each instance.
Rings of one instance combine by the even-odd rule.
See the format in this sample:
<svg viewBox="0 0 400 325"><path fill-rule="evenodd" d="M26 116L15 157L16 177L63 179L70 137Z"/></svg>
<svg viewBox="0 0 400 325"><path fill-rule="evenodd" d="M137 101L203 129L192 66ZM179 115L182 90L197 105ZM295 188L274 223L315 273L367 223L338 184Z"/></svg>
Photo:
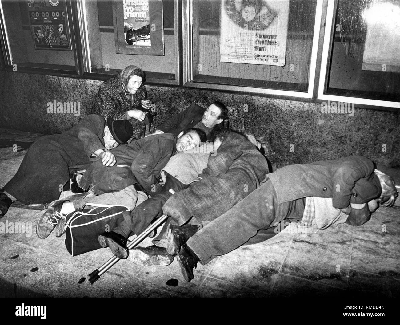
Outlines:
<svg viewBox="0 0 400 325"><path fill-rule="evenodd" d="M99 159L99 157L90 157L94 151L98 149L106 150L99 137L99 134L103 134L104 132L104 129L100 130L103 125L102 117L98 115L86 116L79 122L80 130L78 131L78 138L90 161Z"/></svg>

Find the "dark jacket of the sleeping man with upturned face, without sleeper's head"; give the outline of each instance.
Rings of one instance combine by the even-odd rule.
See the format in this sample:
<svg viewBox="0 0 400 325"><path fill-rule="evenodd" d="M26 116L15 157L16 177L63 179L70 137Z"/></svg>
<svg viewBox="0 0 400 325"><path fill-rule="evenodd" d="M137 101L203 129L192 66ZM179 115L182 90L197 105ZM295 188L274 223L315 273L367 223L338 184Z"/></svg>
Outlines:
<svg viewBox="0 0 400 325"><path fill-rule="evenodd" d="M101 160L90 165L79 186L95 194L116 192L130 185L139 183L150 195L161 191L158 183L161 170L176 152L176 136L173 134L156 134L120 144L110 150L116 158L116 164L106 167ZM122 165L125 167L118 167Z"/></svg>

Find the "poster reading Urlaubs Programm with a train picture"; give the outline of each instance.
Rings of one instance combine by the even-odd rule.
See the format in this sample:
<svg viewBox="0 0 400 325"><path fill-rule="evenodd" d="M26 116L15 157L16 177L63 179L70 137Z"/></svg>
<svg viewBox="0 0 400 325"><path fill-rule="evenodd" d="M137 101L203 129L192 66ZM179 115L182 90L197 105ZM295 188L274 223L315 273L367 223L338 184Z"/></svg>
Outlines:
<svg viewBox="0 0 400 325"><path fill-rule="evenodd" d="M116 52L164 55L162 0L115 0Z"/></svg>

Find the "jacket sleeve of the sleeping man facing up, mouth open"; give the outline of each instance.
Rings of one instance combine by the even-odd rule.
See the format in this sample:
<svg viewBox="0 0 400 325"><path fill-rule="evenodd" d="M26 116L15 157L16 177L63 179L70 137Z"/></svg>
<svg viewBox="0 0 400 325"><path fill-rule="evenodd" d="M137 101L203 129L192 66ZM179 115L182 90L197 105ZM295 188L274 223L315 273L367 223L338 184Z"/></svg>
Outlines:
<svg viewBox="0 0 400 325"><path fill-rule="evenodd" d="M172 142L173 144L173 142ZM169 153L168 153L169 152ZM165 142L160 142L160 138L153 140L151 144L144 144L132 163L132 173L136 180L150 195L158 194L161 185L158 183L155 169L165 167L172 155L172 149ZM159 174L158 172L156 172Z"/></svg>

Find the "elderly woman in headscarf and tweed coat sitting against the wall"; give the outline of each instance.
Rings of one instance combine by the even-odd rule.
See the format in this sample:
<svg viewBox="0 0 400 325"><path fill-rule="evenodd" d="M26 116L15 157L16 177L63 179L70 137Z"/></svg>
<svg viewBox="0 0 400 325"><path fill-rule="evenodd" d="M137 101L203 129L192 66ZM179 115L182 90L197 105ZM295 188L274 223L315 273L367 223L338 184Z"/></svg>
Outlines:
<svg viewBox="0 0 400 325"><path fill-rule="evenodd" d="M115 120L129 120L133 138L142 138L152 122L151 102L147 100L144 72L137 66L127 66L116 76L104 81L94 98L92 114ZM146 127L148 128L146 130ZM154 127L153 127L154 128Z"/></svg>

